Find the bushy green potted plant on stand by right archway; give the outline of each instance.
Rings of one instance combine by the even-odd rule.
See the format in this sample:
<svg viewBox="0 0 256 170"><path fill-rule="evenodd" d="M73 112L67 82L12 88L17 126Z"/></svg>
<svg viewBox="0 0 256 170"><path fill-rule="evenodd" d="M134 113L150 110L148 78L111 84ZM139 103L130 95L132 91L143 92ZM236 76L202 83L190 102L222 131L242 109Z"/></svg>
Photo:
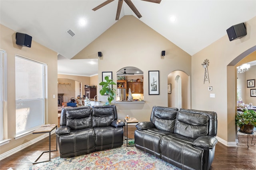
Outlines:
<svg viewBox="0 0 256 170"><path fill-rule="evenodd" d="M248 110L246 107L241 108L242 112L237 112L236 125L240 127L242 133L253 133L254 127L256 127L256 112L254 110Z"/></svg>

